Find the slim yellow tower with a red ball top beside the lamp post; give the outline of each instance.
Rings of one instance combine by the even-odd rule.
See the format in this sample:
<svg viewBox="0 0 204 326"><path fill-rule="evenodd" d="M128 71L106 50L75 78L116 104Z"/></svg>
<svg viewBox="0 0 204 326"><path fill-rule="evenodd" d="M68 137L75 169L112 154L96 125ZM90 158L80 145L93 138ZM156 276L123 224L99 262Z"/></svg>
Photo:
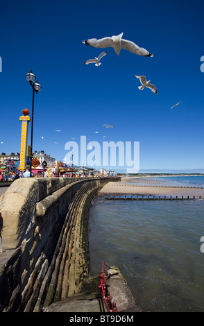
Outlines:
<svg viewBox="0 0 204 326"><path fill-rule="evenodd" d="M24 109L22 111L24 114L19 118L22 121L22 140L21 140L21 155L20 155L20 163L19 169L24 171L26 169L26 160L27 160L27 151L28 151L28 122L31 121L31 118L28 117L30 111L28 109Z"/></svg>

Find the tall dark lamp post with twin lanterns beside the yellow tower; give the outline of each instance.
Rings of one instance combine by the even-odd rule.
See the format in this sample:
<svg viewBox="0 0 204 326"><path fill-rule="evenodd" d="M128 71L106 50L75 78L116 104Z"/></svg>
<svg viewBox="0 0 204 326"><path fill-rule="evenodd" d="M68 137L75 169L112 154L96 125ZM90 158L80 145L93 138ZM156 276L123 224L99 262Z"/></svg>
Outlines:
<svg viewBox="0 0 204 326"><path fill-rule="evenodd" d="M41 85L38 83L38 80L35 82L35 75L31 70L28 74L26 74L26 80L30 83L33 88L33 103L32 103L32 118L31 118L31 157L30 157L30 177L32 177L32 153L33 153L33 116L34 116L34 95L40 92L42 89Z"/></svg>

